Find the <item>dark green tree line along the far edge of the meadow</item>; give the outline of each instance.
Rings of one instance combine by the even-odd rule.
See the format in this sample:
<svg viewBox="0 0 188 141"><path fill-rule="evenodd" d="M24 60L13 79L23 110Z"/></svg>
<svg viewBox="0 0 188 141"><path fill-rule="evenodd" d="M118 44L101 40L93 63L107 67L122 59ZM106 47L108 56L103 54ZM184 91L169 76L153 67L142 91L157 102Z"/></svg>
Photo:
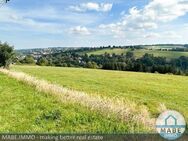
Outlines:
<svg viewBox="0 0 188 141"><path fill-rule="evenodd" d="M44 55L37 61L31 55L26 56L20 63L37 64L40 66L58 67L83 67L106 70L150 72L150 73L171 73L176 75L188 75L188 57L181 56L176 59L166 57L155 57L152 54L145 54L136 58L134 53L129 51L126 54L88 55L78 54L76 51Z"/></svg>

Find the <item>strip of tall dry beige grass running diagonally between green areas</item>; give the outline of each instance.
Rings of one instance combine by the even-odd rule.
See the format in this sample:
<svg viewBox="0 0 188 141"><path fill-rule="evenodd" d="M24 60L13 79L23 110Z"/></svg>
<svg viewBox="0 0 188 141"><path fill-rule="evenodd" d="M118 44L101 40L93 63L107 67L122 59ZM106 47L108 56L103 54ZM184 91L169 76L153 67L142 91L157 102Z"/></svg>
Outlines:
<svg viewBox="0 0 188 141"><path fill-rule="evenodd" d="M84 92L64 88L45 80L39 80L23 72L15 72L6 69L0 69L0 72L19 81L23 81L30 86L34 86L38 91L53 94L63 102L78 103L91 110L97 110L107 116L113 114L122 121L141 123L145 128L154 131L155 119L150 118L148 109L145 106L138 105L135 102L120 100L118 98L110 99L97 95L91 96Z"/></svg>

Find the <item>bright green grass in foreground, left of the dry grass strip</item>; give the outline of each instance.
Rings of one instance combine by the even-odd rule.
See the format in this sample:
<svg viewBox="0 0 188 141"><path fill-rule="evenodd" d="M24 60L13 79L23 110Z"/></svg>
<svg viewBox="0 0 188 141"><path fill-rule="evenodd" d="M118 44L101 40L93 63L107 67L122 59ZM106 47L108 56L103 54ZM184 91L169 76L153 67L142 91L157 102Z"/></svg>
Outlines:
<svg viewBox="0 0 188 141"><path fill-rule="evenodd" d="M1 133L127 133L135 126L81 105L59 102L1 73L0 80Z"/></svg>

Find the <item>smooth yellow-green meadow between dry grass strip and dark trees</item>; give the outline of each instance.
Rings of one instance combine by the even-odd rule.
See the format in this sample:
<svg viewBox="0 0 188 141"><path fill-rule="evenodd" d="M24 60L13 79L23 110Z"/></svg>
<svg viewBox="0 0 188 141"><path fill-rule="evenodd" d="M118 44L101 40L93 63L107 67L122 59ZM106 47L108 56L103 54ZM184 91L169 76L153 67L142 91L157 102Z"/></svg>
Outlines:
<svg viewBox="0 0 188 141"><path fill-rule="evenodd" d="M146 105L157 117L160 103L181 112L188 121L188 77L82 68L14 66L40 79L91 95L130 99Z"/></svg>

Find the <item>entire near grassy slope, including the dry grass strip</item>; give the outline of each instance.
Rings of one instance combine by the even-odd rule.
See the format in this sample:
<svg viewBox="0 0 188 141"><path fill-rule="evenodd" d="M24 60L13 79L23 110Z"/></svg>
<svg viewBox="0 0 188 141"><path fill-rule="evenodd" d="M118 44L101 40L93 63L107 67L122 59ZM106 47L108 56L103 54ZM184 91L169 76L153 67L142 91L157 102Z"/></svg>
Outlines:
<svg viewBox="0 0 188 141"><path fill-rule="evenodd" d="M0 132L151 133L153 130L141 124L140 118L132 118L141 115L146 122L165 109L179 111L188 121L186 76L38 66L12 66L7 71L10 74L3 72ZM73 92L73 98L66 91ZM88 107L82 102L87 100L101 105L98 109L92 104ZM112 112L106 115L111 101L116 104L112 103ZM125 107L118 106L120 101ZM118 108L120 113L113 112ZM131 114L121 119L121 110Z"/></svg>

